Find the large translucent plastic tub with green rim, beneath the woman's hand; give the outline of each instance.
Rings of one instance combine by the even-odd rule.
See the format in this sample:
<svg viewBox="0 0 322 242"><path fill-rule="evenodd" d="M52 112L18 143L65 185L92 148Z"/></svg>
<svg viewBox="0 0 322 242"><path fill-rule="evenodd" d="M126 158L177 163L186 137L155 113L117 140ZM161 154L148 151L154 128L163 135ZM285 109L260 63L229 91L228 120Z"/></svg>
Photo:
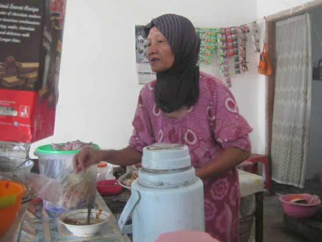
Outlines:
<svg viewBox="0 0 322 242"><path fill-rule="evenodd" d="M99 149L93 144L93 149ZM36 148L34 154L38 156L39 173L60 181L60 198L58 202L43 200L44 208L58 213L87 208L89 199L92 204L96 198L97 165L87 168L86 172L75 174L72 166L73 156L79 150L54 150L51 145ZM94 192L93 192L94 191ZM92 195L92 196L91 196Z"/></svg>

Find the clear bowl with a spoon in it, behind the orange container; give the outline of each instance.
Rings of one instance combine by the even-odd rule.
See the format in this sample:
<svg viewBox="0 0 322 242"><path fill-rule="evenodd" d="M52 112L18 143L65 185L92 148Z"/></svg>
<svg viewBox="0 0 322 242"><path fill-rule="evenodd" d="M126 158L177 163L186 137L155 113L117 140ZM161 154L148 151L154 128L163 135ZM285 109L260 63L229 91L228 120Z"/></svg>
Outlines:
<svg viewBox="0 0 322 242"><path fill-rule="evenodd" d="M0 176L3 176L4 179L14 180L21 183L22 174L29 173L31 168L34 166L34 162L32 160L28 160L17 169L16 167L25 160L25 158L0 157Z"/></svg>

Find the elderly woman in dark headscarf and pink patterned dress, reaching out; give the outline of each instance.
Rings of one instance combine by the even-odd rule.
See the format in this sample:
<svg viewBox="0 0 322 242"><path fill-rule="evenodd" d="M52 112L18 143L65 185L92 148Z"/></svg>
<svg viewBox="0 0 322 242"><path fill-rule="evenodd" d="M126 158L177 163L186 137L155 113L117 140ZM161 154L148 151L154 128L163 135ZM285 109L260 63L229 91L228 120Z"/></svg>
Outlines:
<svg viewBox="0 0 322 242"><path fill-rule="evenodd" d="M191 163L204 184L206 232L238 240L239 186L236 166L250 156L252 128L218 78L199 72L200 38L185 17L165 14L145 26L147 58L156 80L140 91L133 135L122 150L81 150L76 171L107 161L141 162L142 149L156 142L189 147Z"/></svg>

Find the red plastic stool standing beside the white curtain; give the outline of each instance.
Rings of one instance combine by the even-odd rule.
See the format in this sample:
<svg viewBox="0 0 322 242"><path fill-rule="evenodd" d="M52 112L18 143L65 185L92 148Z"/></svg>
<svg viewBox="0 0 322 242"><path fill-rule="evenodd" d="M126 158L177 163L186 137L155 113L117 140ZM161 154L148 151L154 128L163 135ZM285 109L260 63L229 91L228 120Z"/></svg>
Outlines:
<svg viewBox="0 0 322 242"><path fill-rule="evenodd" d="M251 156L245 161L241 162L238 167L245 167L248 172L258 174L258 162L262 162L265 165L265 187L268 190L268 196L272 196L273 191L271 187L270 163L265 155L251 154Z"/></svg>

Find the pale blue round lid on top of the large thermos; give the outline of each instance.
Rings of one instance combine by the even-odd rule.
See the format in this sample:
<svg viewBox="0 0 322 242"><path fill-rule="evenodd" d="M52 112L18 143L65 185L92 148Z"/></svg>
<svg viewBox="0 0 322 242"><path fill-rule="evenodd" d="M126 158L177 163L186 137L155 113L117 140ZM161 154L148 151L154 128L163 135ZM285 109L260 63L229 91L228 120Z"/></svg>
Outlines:
<svg viewBox="0 0 322 242"><path fill-rule="evenodd" d="M178 169L191 165L186 145L155 143L143 149L142 167L149 169Z"/></svg>

